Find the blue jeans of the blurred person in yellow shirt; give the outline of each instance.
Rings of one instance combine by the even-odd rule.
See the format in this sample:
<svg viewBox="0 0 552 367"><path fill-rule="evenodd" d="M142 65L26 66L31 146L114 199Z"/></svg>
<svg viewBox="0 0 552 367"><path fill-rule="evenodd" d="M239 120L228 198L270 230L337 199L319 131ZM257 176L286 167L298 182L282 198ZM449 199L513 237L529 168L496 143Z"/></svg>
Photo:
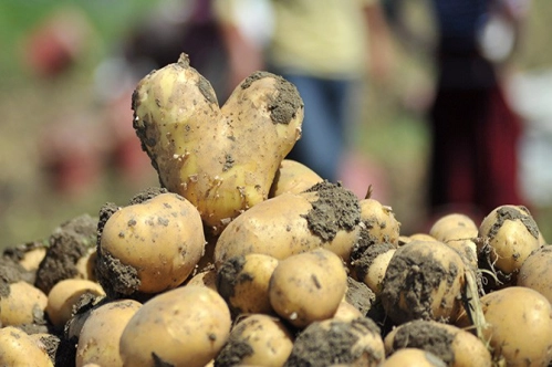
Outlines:
<svg viewBox="0 0 552 367"><path fill-rule="evenodd" d="M302 136L287 158L302 162L323 179L336 182L355 83L352 80L280 75L296 86L304 103Z"/></svg>

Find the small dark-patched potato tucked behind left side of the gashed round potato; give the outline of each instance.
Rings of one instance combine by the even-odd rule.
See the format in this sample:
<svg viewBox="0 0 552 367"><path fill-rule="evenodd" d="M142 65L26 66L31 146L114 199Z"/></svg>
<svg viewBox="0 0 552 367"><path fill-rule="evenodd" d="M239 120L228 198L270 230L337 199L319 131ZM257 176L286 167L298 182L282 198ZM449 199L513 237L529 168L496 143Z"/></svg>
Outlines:
<svg viewBox="0 0 552 367"><path fill-rule="evenodd" d="M217 290L233 316L271 314L269 283L278 260L261 253L230 258L217 273Z"/></svg>

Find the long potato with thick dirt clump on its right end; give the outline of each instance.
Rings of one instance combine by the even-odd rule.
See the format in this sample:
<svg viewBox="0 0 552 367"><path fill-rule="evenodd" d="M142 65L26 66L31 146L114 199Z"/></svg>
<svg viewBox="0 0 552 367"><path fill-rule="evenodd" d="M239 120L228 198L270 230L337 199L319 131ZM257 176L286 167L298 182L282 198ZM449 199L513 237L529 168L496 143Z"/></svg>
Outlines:
<svg viewBox="0 0 552 367"><path fill-rule="evenodd" d="M303 193L282 193L236 218L220 234L215 264L247 253L278 260L325 248L347 261L360 232L356 196L340 184L322 182Z"/></svg>

